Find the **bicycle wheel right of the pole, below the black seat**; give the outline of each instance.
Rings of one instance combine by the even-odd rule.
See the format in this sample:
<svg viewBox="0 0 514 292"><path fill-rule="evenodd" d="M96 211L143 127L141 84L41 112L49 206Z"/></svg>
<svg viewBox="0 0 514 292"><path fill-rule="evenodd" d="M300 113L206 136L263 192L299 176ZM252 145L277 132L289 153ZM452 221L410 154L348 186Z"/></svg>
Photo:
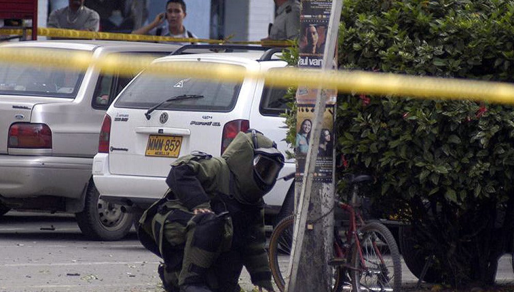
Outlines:
<svg viewBox="0 0 514 292"><path fill-rule="evenodd" d="M352 251L353 291L400 291L400 252L391 231L380 222L369 222L359 232L360 249L353 244Z"/></svg>

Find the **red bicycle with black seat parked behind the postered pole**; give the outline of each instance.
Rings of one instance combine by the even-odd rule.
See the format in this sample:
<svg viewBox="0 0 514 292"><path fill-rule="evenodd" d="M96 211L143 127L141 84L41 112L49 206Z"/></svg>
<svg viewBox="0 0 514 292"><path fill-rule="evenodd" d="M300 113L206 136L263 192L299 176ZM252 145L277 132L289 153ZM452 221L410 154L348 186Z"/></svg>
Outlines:
<svg viewBox="0 0 514 292"><path fill-rule="evenodd" d="M334 228L332 291L400 291L401 259L393 234L379 220L365 222L360 211L359 183L371 177L349 176L350 203L336 200L348 214ZM270 267L280 291L289 280L289 257L293 244L294 217L282 219L273 230L269 245ZM338 226L338 224L336 224Z"/></svg>

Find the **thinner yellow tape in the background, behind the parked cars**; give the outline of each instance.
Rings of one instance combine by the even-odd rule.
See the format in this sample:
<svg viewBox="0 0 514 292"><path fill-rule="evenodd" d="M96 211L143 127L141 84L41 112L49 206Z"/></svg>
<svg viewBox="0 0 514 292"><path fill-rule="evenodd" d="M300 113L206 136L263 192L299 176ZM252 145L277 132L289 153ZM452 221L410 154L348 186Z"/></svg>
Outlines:
<svg viewBox="0 0 514 292"><path fill-rule="evenodd" d="M31 29L27 29L27 35L30 35ZM22 29L4 29L0 28L0 35L19 35L23 34ZM210 40L210 39L194 39L194 38L173 38L162 36L148 35L132 35L131 33L114 33L114 32L96 32L63 28L38 28L38 36L66 39L90 39L90 40L115 40L115 41L133 41L133 42L180 42L180 43L209 43L209 44L256 44L262 46L289 46L290 41L231 41L227 40Z"/></svg>

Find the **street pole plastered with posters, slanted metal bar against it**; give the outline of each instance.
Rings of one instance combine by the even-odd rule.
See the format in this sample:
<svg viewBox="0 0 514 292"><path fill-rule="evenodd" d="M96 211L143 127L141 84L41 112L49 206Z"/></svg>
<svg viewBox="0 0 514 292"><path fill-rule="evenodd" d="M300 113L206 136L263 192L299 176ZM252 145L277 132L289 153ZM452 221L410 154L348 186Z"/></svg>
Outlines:
<svg viewBox="0 0 514 292"><path fill-rule="evenodd" d="M298 67L309 71L333 70L343 0L302 0L301 3L303 31L300 31ZM328 291L334 276L327 262L334 236L336 91L316 84L313 88L300 87L296 94L297 216L293 230L296 241L289 259L288 291Z"/></svg>

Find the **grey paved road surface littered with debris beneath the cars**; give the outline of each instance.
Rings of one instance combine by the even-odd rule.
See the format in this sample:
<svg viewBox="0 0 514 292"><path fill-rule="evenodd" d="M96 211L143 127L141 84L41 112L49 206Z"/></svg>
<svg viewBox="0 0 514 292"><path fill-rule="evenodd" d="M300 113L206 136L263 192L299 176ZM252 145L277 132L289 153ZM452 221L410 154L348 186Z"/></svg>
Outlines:
<svg viewBox="0 0 514 292"><path fill-rule="evenodd" d="M162 292L159 258L132 231L118 242L88 241L71 215L9 212L0 217L1 292ZM240 284L250 291L243 271ZM403 268L403 282L416 278ZM500 261L498 282L514 282L510 257Z"/></svg>

